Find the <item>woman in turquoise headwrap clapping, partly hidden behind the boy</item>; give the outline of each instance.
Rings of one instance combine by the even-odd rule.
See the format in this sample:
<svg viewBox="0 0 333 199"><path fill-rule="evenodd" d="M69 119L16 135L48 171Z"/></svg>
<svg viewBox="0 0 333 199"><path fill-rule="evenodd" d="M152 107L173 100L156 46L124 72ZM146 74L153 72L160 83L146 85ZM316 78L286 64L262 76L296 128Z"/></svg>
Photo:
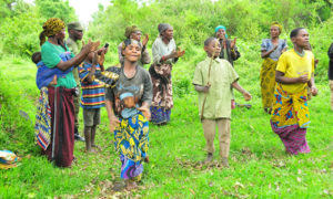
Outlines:
<svg viewBox="0 0 333 199"><path fill-rule="evenodd" d="M226 29L223 25L215 28L215 38L221 44L221 53L219 57L228 60L233 66L233 62L241 56L241 53L238 51L235 45L236 38L232 41L228 40Z"/></svg>

